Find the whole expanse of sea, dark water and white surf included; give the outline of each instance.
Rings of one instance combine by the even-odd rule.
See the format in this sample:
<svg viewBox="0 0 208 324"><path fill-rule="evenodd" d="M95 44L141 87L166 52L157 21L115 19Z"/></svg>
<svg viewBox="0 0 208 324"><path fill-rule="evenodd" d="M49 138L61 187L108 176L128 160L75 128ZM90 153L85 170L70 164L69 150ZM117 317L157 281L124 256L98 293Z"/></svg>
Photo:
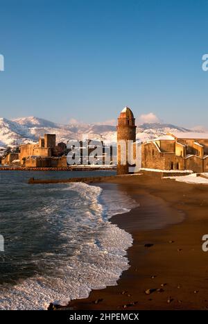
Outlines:
<svg viewBox="0 0 208 324"><path fill-rule="evenodd" d="M115 187L28 185L31 176L66 177L62 172L0 172L0 309L66 305L92 289L116 284L128 269L132 237L109 218L136 207L135 201Z"/></svg>

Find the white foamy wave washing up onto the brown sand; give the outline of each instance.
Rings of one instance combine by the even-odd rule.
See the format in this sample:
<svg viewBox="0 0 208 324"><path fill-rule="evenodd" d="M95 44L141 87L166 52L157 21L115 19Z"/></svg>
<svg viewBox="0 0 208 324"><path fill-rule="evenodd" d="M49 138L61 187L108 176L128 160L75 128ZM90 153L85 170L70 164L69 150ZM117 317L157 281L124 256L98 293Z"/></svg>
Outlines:
<svg viewBox="0 0 208 324"><path fill-rule="evenodd" d="M71 299L87 298L92 289L115 285L129 267L126 250L132 237L107 219L135 207L135 201L119 191L110 193L84 183L42 190L48 194L36 210L37 221L42 217L45 226L39 234L52 232L57 246L32 255L36 275L20 278L12 287L1 285L0 309L46 309L50 302L66 305Z"/></svg>

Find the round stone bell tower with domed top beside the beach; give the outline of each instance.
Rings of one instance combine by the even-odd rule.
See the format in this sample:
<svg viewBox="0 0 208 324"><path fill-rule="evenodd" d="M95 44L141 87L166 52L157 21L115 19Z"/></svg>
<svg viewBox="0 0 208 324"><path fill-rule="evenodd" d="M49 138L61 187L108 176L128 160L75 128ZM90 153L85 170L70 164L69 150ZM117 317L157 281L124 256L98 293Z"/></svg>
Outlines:
<svg viewBox="0 0 208 324"><path fill-rule="evenodd" d="M123 108L117 124L117 174L129 173L128 141L136 142L136 128L132 111L128 107Z"/></svg>

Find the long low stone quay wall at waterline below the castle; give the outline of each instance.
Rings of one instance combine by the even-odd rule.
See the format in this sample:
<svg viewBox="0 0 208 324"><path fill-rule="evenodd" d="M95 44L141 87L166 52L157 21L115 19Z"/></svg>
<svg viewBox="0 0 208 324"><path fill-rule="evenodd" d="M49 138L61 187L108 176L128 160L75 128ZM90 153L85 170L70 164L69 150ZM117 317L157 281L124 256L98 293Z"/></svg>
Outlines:
<svg viewBox="0 0 208 324"><path fill-rule="evenodd" d="M116 167L60 167L60 168L0 167L0 171L96 171L96 170L116 170Z"/></svg>

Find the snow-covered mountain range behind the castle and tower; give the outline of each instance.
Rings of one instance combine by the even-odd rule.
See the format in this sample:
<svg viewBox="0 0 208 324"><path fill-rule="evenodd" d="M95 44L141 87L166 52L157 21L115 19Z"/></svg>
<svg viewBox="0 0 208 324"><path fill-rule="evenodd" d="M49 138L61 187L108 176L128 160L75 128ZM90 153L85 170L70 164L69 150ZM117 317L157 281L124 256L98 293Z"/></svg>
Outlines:
<svg viewBox="0 0 208 324"><path fill-rule="evenodd" d="M168 123L143 123L137 126L137 139L145 141L176 131L188 132L190 130ZM57 142L82 139L84 134L89 139L103 140L105 144L116 144L116 126L87 123L64 125L37 117L24 117L13 121L0 118L1 147L15 147L23 143L37 142L38 137L45 133L56 134Z"/></svg>

